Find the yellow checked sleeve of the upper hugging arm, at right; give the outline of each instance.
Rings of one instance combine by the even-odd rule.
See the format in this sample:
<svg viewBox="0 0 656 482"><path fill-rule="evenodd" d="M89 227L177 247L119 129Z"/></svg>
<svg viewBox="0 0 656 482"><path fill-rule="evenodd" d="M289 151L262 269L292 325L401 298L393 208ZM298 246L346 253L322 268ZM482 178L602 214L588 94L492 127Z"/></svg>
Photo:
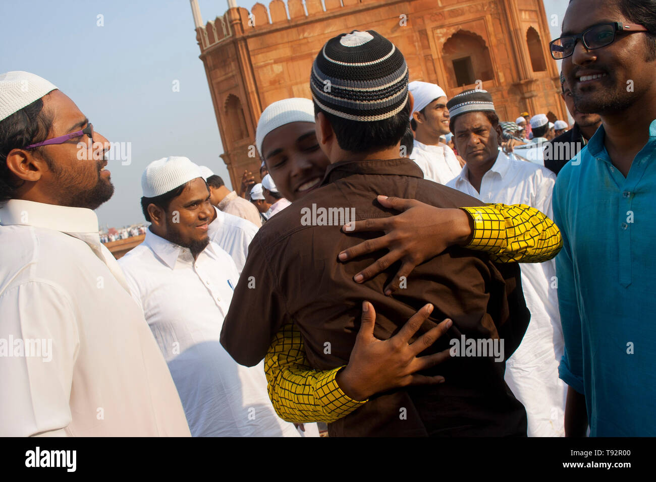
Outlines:
<svg viewBox="0 0 656 482"><path fill-rule="evenodd" d="M465 247L487 251L494 262L541 263L563 247L558 226L543 212L525 204L463 207L474 220Z"/></svg>

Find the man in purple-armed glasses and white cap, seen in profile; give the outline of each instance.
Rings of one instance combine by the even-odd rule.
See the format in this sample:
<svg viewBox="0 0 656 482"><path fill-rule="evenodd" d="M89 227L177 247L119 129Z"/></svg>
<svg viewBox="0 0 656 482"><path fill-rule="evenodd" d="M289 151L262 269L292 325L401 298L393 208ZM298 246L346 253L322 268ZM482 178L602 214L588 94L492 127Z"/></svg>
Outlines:
<svg viewBox="0 0 656 482"><path fill-rule="evenodd" d="M108 149L52 83L0 75L0 340L13 340L9 351L0 344L1 437L190 435L144 315L100 243L92 209L112 197Z"/></svg>

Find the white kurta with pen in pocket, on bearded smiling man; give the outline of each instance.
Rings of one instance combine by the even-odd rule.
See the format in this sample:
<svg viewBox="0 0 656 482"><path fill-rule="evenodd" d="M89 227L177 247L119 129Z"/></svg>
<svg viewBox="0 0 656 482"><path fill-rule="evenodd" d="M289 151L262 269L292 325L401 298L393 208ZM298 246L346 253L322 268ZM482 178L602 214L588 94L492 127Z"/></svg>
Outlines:
<svg viewBox="0 0 656 482"><path fill-rule="evenodd" d="M149 229L119 263L169 364L194 437L298 436L271 405L263 363L243 367L219 342L239 280L228 253L210 243L194 261L188 249Z"/></svg>

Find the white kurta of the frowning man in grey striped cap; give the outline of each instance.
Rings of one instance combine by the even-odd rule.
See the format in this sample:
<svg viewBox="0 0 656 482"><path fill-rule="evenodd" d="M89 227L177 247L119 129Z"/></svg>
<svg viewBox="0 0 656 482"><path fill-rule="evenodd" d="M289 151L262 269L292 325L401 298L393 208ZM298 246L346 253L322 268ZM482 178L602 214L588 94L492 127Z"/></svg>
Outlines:
<svg viewBox="0 0 656 482"><path fill-rule="evenodd" d="M497 161L483 176L478 193L470 184L467 167L447 186L485 203L526 204L553 216L551 198L556 176L525 161L512 161L499 151ZM554 260L523 263L522 289L531 322L522 344L506 363L505 380L528 416L531 437L564 436L566 386L558 378L564 351Z"/></svg>

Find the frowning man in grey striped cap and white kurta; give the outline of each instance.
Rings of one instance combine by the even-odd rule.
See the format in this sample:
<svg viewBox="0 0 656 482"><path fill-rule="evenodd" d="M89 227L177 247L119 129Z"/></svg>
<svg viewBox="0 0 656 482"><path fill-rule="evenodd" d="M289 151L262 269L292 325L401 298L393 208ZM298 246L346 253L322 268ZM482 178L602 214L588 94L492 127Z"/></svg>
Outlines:
<svg viewBox="0 0 656 482"><path fill-rule="evenodd" d="M455 144L467 163L447 186L486 203L525 204L552 216L556 176L534 163L509 159L499 149L501 125L490 94L462 92L449 101L449 113ZM526 408L529 437L565 434L566 386L558 378L564 340L557 288L554 260L522 264L531 322L522 344L506 361L505 380Z"/></svg>

